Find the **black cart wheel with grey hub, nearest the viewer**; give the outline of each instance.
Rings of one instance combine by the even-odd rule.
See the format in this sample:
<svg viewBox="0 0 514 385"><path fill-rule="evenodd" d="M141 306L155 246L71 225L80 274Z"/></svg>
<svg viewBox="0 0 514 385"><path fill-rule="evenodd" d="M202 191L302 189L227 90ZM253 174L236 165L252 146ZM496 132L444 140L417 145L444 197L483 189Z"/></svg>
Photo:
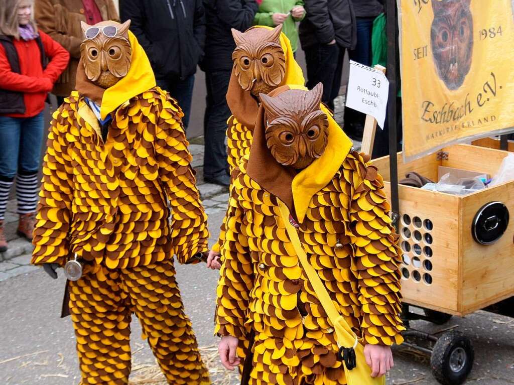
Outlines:
<svg viewBox="0 0 514 385"><path fill-rule="evenodd" d="M474 351L469 338L449 331L437 339L430 366L435 379L443 385L460 385L473 367Z"/></svg>

